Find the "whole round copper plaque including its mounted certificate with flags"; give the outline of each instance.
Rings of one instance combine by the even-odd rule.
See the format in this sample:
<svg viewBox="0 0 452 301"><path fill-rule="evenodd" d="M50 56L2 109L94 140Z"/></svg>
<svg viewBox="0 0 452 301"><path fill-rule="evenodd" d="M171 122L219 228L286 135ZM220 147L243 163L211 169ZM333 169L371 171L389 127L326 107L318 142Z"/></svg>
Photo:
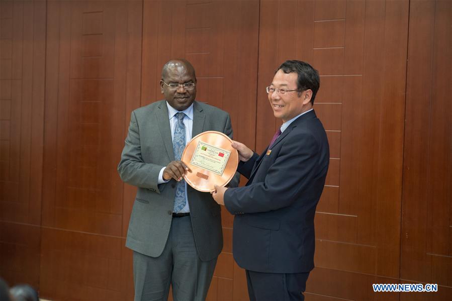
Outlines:
<svg viewBox="0 0 452 301"><path fill-rule="evenodd" d="M223 133L207 131L190 140L181 160L192 172L184 178L199 191L214 191L214 185L225 186L234 176L238 166L237 150L232 140Z"/></svg>

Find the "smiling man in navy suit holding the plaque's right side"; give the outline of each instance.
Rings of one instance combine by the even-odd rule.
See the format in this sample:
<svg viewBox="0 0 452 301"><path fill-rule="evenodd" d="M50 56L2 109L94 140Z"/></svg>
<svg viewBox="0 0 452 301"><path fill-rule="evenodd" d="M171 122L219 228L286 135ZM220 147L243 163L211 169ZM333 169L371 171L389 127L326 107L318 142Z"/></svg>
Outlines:
<svg viewBox="0 0 452 301"><path fill-rule="evenodd" d="M266 87L281 129L259 156L244 144L244 187L216 187L233 214L233 255L246 270L250 300L303 300L314 268L314 214L329 164L325 130L313 110L320 78L302 61L286 61Z"/></svg>

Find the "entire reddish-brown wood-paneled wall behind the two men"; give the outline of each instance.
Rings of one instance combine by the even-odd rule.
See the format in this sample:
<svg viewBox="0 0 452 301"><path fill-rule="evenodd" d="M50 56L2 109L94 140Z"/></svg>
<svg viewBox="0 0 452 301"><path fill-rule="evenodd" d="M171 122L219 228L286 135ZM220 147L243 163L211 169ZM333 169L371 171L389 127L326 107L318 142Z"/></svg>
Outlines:
<svg viewBox="0 0 452 301"><path fill-rule="evenodd" d="M452 295L452 1L0 1L0 276L50 299L133 298L135 188L116 166L168 59L260 152L286 59L321 75L330 169L307 300ZM246 300L233 217L209 300ZM374 293L372 283L438 283Z"/></svg>

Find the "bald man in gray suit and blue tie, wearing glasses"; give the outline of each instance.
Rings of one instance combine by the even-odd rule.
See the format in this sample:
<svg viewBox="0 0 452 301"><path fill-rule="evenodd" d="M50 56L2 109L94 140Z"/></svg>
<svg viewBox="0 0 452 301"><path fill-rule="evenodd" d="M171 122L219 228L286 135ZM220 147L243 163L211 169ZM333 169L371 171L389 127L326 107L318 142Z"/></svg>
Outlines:
<svg viewBox="0 0 452 301"><path fill-rule="evenodd" d="M126 246L133 250L135 300L204 300L223 248L220 206L187 185L180 161L186 144L205 131L232 138L229 114L195 101L196 75L187 60L162 69L165 97L132 112L118 171L137 186ZM238 174L230 182L237 186Z"/></svg>

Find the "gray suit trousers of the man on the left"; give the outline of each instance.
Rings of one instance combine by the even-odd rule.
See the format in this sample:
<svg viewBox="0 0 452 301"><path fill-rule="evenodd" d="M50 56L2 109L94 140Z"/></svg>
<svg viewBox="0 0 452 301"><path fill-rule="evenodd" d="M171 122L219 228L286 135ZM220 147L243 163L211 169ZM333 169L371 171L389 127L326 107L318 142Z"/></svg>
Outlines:
<svg viewBox="0 0 452 301"><path fill-rule="evenodd" d="M170 284L174 301L205 300L216 263L198 257L190 216L173 218L159 257L133 252L135 301L166 301Z"/></svg>

